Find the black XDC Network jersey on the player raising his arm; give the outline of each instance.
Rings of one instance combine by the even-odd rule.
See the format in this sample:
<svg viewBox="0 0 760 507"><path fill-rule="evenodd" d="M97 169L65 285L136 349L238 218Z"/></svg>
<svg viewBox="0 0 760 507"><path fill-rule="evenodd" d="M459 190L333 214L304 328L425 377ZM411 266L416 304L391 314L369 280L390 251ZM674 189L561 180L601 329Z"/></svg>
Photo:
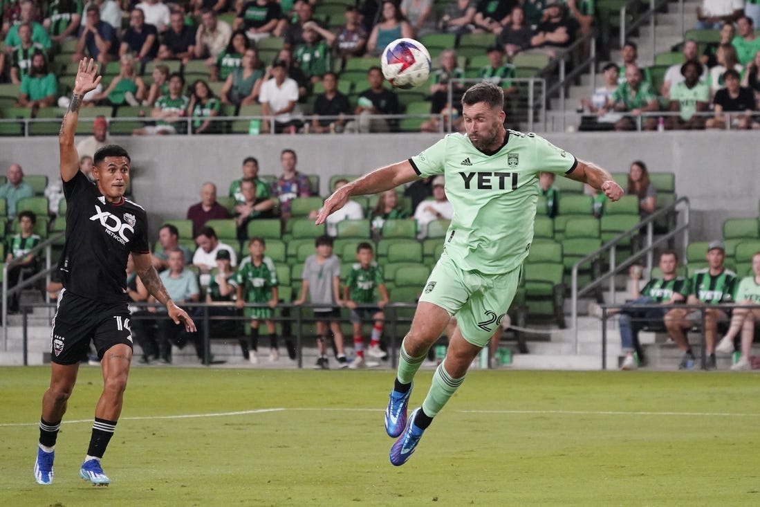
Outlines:
<svg viewBox="0 0 760 507"><path fill-rule="evenodd" d="M101 303L127 300L129 253L150 252L145 210L124 198L109 203L81 171L64 182L63 195L66 242L58 264L63 286Z"/></svg>

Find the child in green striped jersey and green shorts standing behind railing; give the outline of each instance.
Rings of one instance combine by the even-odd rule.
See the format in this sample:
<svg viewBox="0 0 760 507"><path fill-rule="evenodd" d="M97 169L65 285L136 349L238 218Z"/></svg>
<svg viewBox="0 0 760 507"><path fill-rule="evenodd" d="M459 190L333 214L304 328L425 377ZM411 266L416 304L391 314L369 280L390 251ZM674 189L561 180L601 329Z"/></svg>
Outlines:
<svg viewBox="0 0 760 507"><path fill-rule="evenodd" d="M249 360L258 364L258 327L261 321L269 334L269 360L274 363L280 357L277 352L277 334L274 330L272 310L277 306L277 272L274 262L264 255L266 242L255 236L248 242L250 257L244 258L236 274L236 306L242 308L245 303L267 303L269 308L246 308L245 315L251 318L251 341L249 343ZM245 295L245 296L244 296Z"/></svg>

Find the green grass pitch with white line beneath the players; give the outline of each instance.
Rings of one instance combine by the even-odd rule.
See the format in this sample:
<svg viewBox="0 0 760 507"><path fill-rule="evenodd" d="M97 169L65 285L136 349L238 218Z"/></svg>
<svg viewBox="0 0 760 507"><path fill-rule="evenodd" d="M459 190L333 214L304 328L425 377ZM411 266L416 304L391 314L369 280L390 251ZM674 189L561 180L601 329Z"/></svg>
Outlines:
<svg viewBox="0 0 760 507"><path fill-rule="evenodd" d="M0 505L760 505L756 375L473 371L403 467L382 426L392 379L132 369L112 483L93 488L78 470L100 369L81 369L38 486L49 370L2 368Z"/></svg>

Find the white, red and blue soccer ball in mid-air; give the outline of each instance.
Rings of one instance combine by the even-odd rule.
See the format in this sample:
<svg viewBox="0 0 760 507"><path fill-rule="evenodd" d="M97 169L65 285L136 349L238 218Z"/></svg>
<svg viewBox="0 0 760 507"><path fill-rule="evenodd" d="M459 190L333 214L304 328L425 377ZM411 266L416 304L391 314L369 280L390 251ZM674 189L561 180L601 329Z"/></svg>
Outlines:
<svg viewBox="0 0 760 507"><path fill-rule="evenodd" d="M416 40L397 39L383 49L380 66L390 84L407 90L427 81L430 53Z"/></svg>

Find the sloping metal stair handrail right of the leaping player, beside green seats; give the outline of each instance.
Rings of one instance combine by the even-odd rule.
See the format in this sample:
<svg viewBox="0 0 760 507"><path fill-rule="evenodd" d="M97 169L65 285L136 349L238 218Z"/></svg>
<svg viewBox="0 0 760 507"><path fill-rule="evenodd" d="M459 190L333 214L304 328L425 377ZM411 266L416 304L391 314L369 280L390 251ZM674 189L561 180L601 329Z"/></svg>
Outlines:
<svg viewBox="0 0 760 507"><path fill-rule="evenodd" d="M668 214L672 213L673 211L676 211L676 208L679 207L679 204L686 204L685 213L683 216L683 222L681 225L677 226L672 231L668 232L667 234L664 234L662 237L660 237L657 240L653 240L654 236L654 221L658 220L660 217L667 217ZM674 238L676 235L683 233L683 245L684 245L684 251L686 251L686 246L689 245L689 220L690 220L690 213L691 213L691 204L689 203L689 198L687 197L681 197L676 199L676 201L673 201L669 205L667 205L665 208L661 208L660 210L655 211L653 214L649 215L648 217L644 218L644 220L641 220L639 223L637 223L634 227L631 227L629 230L625 230L622 233L619 233L617 236L615 236L613 239L610 239L610 241L604 243L599 249L595 250L594 252L591 252L590 254L586 255L584 258L581 258L572 267L571 272L571 312L572 312L572 326L573 326L573 346L575 349L575 353L578 353L578 298L581 296L584 296L585 294L591 292L591 290L596 289L597 287L600 287L600 285L604 284L606 281L610 282L610 293L612 294L613 301L615 302L615 276L620 271L624 270L625 268L628 268L629 266L633 265L635 261L638 261L639 258L646 255L647 257L647 269L651 271L652 268L652 253L654 252L654 249L656 249L658 246L663 244L664 242L667 242L671 238ZM625 261L622 261L620 265L616 265L616 247L623 239L629 239L633 238L634 236L637 236L638 233L641 231L642 227L647 228L647 241L644 244L644 246L638 250L638 252L635 252L635 254L631 255L629 258L625 259ZM578 270L581 267L581 265L586 264L587 262L593 261L595 258L601 257L603 254L609 253L610 257L610 268L606 271L606 273L603 273L598 277L596 280L592 280L589 284L587 284L582 289L578 289Z"/></svg>

